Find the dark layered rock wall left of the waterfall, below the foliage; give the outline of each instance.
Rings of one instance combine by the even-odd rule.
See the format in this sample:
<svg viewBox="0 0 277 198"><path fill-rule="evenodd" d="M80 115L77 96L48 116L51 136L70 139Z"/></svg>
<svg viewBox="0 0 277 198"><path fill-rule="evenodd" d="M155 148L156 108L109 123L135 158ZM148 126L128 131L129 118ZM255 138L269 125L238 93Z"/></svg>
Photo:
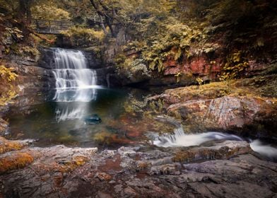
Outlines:
<svg viewBox="0 0 277 198"><path fill-rule="evenodd" d="M15 92L12 105L24 108L26 105L41 103L45 100L42 94L49 90L48 79L51 78L52 73L38 66L39 59L39 54L35 57L18 54L2 57L1 64L17 75L16 79L11 82L12 88L9 88L9 91ZM7 83L2 86L9 87ZM1 108L6 111L7 107L8 105Z"/></svg>

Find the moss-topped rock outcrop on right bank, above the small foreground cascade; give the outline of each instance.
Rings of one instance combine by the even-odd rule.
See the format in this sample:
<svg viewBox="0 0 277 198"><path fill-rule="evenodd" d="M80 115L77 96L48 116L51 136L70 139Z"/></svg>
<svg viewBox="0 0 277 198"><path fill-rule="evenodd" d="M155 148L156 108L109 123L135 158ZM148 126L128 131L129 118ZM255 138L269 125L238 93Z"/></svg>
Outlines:
<svg viewBox="0 0 277 198"><path fill-rule="evenodd" d="M276 75L266 78L261 83L257 77L170 89L148 103L163 103L164 112L181 120L188 132L252 130L253 135L276 138Z"/></svg>

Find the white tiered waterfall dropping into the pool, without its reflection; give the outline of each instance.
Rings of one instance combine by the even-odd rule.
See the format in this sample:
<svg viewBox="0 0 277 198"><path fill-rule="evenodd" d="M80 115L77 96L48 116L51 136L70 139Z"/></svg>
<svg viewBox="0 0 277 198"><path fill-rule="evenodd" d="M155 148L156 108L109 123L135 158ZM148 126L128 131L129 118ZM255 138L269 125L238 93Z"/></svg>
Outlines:
<svg viewBox="0 0 277 198"><path fill-rule="evenodd" d="M78 50L55 49L56 93L53 100L57 102L95 100L97 77L93 69L88 69L88 62L83 52Z"/></svg>

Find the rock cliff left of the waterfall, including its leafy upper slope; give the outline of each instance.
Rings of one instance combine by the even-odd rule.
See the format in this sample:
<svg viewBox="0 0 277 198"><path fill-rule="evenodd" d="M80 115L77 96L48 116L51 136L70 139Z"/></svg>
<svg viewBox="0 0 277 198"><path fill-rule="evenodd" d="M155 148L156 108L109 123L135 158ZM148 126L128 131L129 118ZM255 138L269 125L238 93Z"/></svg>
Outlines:
<svg viewBox="0 0 277 198"><path fill-rule="evenodd" d="M35 100L47 90L47 79L52 74L38 66L40 52L37 42L30 35L23 34L20 23L10 16L0 18L0 63L15 75L12 81L2 81L0 95L10 94L14 105L25 106L40 103ZM3 76L2 76L3 77ZM8 96L5 96L8 98ZM10 100L6 100L7 105ZM6 110L7 106L2 106Z"/></svg>

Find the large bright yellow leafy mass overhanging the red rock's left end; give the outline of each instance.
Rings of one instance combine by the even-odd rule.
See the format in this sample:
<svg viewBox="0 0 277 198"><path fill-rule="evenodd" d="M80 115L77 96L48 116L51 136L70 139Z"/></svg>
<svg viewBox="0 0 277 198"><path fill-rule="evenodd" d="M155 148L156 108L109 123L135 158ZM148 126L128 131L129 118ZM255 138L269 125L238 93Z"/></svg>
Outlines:
<svg viewBox="0 0 277 198"><path fill-rule="evenodd" d="M190 52L191 45L206 37L198 27L189 27L172 18L160 26L165 30L161 30L157 37L151 37L145 42L147 45L141 48L142 58L148 62L149 69L158 69L159 72L164 71L163 61L168 57L177 61L183 54L187 58L194 55Z"/></svg>

